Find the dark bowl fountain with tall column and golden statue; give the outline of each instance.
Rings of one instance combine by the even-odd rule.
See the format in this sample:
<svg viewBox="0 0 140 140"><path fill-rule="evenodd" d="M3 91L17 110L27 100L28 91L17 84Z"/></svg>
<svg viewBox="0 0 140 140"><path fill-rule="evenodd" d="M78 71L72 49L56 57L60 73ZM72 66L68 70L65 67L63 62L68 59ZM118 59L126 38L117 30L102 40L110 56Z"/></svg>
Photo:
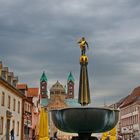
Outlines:
<svg viewBox="0 0 140 140"><path fill-rule="evenodd" d="M80 80L78 102L82 107L52 110L52 120L55 126L64 132L78 133L72 140L96 140L92 133L102 133L115 127L119 118L119 111L107 108L86 107L90 103L90 90L88 80L88 57L85 38L79 41L81 48Z"/></svg>

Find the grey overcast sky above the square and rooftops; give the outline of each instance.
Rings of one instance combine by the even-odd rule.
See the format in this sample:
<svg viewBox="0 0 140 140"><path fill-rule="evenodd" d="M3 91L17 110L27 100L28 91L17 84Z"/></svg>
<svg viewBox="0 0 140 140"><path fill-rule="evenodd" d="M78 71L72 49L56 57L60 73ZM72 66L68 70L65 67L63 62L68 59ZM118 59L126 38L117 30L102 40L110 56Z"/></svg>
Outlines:
<svg viewBox="0 0 140 140"><path fill-rule="evenodd" d="M92 102L114 103L140 85L139 13L139 0L0 0L0 60L29 87L72 71L77 96L85 36Z"/></svg>

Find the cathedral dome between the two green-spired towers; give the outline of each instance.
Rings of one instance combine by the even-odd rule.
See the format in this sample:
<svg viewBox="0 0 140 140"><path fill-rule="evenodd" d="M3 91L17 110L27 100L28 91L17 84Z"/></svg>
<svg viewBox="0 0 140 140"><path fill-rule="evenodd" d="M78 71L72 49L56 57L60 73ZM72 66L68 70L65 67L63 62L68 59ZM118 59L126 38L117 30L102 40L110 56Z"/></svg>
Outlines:
<svg viewBox="0 0 140 140"><path fill-rule="evenodd" d="M65 94L65 89L62 84L57 81L51 88L50 94Z"/></svg>

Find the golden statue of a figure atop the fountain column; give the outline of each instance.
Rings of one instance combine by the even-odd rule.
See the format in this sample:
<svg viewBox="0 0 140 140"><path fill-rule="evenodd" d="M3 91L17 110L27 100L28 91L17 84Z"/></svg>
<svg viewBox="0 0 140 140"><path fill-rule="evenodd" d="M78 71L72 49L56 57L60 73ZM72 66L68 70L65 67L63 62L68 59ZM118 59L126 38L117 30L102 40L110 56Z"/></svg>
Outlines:
<svg viewBox="0 0 140 140"><path fill-rule="evenodd" d="M87 41L85 40L84 37L82 37L82 38L78 41L78 43L80 44L80 49L81 49L82 55L85 55L85 53L86 53L86 47L87 47L87 49L89 49L89 46L88 46Z"/></svg>

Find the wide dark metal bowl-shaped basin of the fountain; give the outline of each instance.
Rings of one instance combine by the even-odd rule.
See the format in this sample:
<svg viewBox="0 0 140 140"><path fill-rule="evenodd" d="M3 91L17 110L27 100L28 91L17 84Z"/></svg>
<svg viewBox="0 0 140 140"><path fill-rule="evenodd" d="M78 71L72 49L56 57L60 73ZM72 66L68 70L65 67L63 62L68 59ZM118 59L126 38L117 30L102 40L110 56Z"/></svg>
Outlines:
<svg viewBox="0 0 140 140"><path fill-rule="evenodd" d="M69 133L102 133L115 127L119 111L106 108L77 107L52 110L55 126Z"/></svg>

